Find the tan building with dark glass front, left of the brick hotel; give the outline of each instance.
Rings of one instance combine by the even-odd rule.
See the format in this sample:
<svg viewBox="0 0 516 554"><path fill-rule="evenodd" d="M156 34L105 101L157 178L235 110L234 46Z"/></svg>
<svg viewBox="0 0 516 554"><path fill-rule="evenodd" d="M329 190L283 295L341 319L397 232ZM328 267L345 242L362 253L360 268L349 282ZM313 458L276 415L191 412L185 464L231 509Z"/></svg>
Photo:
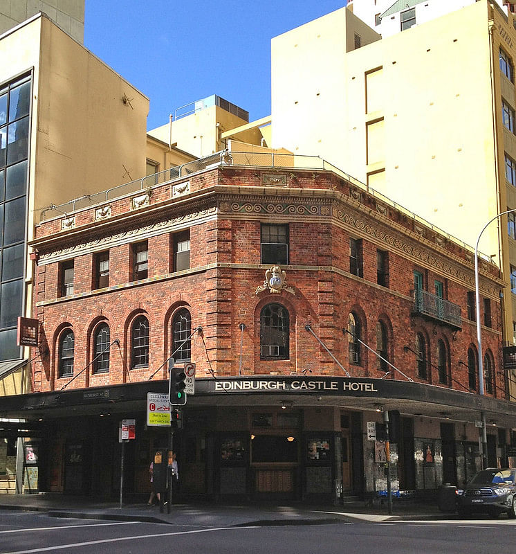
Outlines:
<svg viewBox="0 0 516 554"><path fill-rule="evenodd" d="M31 388L17 320L32 315L26 244L42 213L133 179L128 190L145 187L147 172L194 157L147 137L147 97L46 15L0 35L0 59L0 395L12 395ZM1 427L0 490L12 490L17 423Z"/></svg>

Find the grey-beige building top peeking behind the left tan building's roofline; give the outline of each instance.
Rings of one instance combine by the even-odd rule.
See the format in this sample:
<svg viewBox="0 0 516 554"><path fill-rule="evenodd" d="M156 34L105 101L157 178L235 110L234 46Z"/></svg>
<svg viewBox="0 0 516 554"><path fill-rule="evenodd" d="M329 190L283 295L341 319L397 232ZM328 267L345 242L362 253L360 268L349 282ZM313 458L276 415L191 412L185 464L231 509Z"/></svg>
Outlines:
<svg viewBox="0 0 516 554"><path fill-rule="evenodd" d="M0 35L39 12L44 12L77 42L84 42L84 0L3 0Z"/></svg>

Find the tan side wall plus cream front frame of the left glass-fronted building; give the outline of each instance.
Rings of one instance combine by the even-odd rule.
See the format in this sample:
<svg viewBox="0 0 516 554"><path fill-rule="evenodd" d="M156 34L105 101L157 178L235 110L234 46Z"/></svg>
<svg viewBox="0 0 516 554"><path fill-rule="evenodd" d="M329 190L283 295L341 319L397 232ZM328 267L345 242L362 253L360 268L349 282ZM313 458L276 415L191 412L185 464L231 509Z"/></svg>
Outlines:
<svg viewBox="0 0 516 554"><path fill-rule="evenodd" d="M41 15L2 36L0 60L0 83L33 71L28 240L39 208L145 175L149 100L84 46ZM32 262L27 268L30 316ZM0 379L0 395L20 390L21 370Z"/></svg>

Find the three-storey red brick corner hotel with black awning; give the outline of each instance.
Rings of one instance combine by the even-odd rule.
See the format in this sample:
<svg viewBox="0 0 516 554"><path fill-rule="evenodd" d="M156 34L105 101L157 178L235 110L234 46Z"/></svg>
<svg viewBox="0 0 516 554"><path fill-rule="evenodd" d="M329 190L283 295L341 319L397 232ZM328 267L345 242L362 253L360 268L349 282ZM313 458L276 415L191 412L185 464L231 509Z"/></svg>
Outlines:
<svg viewBox="0 0 516 554"><path fill-rule="evenodd" d="M480 411L489 465L508 463L499 269L481 263L479 395L472 249L318 158L279 159L223 152L42 217L34 393L5 400L35 436L39 490L116 494L119 422L134 418L125 482L147 492L168 432L147 427L147 393L167 392L172 353L197 372L174 436L181 494L385 490L367 436L384 410L395 490L475 472Z"/></svg>

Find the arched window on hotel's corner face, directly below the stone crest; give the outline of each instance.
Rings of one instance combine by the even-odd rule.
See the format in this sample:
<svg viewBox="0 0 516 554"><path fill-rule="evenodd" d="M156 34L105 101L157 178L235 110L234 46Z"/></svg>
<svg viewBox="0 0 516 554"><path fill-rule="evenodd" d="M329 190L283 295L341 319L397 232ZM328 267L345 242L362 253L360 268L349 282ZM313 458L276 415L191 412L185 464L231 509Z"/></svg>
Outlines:
<svg viewBox="0 0 516 554"><path fill-rule="evenodd" d="M262 359L288 359L288 310L281 304L267 304L260 313L260 355Z"/></svg>

